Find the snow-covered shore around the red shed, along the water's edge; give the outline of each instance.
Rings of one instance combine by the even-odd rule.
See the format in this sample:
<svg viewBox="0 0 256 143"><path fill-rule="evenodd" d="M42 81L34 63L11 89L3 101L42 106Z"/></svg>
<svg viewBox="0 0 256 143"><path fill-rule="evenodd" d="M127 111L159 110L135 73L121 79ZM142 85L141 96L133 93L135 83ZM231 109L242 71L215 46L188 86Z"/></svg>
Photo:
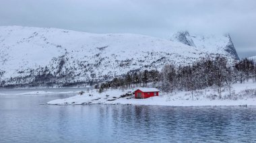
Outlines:
<svg viewBox="0 0 256 143"><path fill-rule="evenodd" d="M49 101L49 105L86 105L86 104L133 104L133 105L168 105L168 106L234 106L256 105L256 83L237 83L232 85L232 95L225 89L222 99L218 98L216 89L209 88L191 92L179 91L177 93L160 93L158 97L148 99L134 99L133 95L121 97L127 93L118 89L108 89L98 93L95 89L86 91L83 95L76 95L66 99Z"/></svg>

